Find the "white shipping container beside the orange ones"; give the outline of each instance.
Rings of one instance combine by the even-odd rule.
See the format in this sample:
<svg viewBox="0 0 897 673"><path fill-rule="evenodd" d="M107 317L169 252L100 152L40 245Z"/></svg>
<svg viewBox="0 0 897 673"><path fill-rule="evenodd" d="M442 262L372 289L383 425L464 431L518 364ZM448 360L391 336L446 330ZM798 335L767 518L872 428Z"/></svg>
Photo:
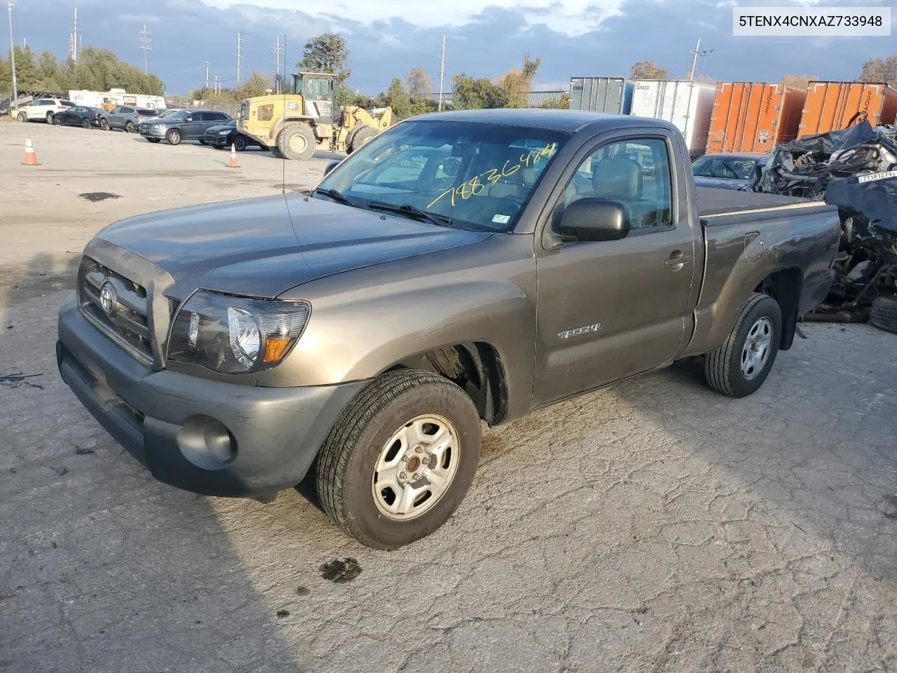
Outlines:
<svg viewBox="0 0 897 673"><path fill-rule="evenodd" d="M716 88L688 80L638 80L631 114L671 122L682 131L692 159L707 150Z"/></svg>

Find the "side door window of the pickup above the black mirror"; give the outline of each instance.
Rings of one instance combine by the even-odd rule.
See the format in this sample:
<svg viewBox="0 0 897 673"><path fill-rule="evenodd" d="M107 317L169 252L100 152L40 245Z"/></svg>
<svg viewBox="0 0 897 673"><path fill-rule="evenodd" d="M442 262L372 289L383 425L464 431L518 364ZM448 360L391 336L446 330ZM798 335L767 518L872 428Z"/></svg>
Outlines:
<svg viewBox="0 0 897 673"><path fill-rule="evenodd" d="M633 231L673 225L672 178L666 142L633 138L602 145L579 164L564 191L564 205L585 197L628 205Z"/></svg>

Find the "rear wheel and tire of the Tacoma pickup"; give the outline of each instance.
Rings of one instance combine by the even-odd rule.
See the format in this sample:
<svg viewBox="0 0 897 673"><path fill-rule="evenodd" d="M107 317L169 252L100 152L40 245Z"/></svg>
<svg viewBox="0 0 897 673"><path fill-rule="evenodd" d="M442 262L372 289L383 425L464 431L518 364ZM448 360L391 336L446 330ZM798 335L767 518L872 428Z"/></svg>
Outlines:
<svg viewBox="0 0 897 673"><path fill-rule="evenodd" d="M779 354L781 333L779 302L753 293L726 343L704 355L710 388L730 398L745 398L759 389Z"/></svg>

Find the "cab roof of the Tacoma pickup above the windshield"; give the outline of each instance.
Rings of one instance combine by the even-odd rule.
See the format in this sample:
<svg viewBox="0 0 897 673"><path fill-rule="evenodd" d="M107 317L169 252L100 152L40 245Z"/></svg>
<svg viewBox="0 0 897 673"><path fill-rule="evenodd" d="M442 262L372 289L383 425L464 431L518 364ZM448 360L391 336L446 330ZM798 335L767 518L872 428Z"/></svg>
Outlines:
<svg viewBox="0 0 897 673"><path fill-rule="evenodd" d="M565 133L573 133L589 125L608 128L640 127L646 122L651 126L675 130L672 124L661 119L610 115L603 112L585 112L572 109L459 109L450 112L431 112L427 115L415 117L414 120L463 121L475 124L499 124L509 127L534 127Z"/></svg>

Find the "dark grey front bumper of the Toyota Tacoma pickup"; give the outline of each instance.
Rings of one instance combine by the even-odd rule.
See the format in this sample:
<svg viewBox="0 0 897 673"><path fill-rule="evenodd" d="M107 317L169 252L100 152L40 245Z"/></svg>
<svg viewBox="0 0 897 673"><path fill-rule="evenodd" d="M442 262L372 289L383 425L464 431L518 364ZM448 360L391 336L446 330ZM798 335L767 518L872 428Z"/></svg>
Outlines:
<svg viewBox="0 0 897 673"><path fill-rule="evenodd" d="M59 311L57 364L83 406L165 484L198 494L270 495L297 485L327 433L367 381L259 388L152 371L83 317ZM233 458L205 451L209 421L223 424ZM225 440L226 441L226 440Z"/></svg>

